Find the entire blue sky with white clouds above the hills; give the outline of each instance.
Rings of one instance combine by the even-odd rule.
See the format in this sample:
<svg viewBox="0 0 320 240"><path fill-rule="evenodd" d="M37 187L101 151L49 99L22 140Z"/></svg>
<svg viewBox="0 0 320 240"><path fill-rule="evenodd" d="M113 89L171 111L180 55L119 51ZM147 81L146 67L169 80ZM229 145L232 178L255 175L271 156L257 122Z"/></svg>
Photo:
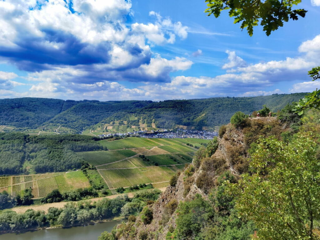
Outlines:
<svg viewBox="0 0 320 240"><path fill-rule="evenodd" d="M72 6L72 7L70 7ZM253 36L204 1L0 1L0 98L165 100L320 88L320 0Z"/></svg>

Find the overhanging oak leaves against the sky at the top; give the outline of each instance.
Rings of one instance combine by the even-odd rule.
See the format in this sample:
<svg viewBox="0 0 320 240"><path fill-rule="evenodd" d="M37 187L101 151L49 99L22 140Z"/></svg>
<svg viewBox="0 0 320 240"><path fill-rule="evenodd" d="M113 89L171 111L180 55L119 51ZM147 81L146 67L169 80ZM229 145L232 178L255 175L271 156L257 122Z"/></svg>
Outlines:
<svg viewBox="0 0 320 240"><path fill-rule="evenodd" d="M297 5L301 0L267 0L267 1L225 1L225 0L206 0L208 16L213 14L216 18L221 11L229 10L229 16L234 17L234 23L241 23L240 28L247 28L248 34L253 35L253 27L263 26L263 31L267 36L271 31L283 26L284 22L298 20L298 17L305 17L306 10L292 9L293 4Z"/></svg>

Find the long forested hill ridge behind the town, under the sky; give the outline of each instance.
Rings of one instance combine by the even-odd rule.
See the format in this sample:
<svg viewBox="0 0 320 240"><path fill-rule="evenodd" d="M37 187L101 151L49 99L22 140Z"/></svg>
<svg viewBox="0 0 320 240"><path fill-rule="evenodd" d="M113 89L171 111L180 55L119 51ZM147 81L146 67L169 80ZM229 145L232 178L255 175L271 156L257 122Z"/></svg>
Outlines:
<svg viewBox="0 0 320 240"><path fill-rule="evenodd" d="M106 101L15 98L0 100L0 131L35 129L52 126L52 132L81 132L96 124L112 124L197 130L227 124L239 109L249 114L266 104L277 111L306 93L273 94L259 97L219 97L194 100Z"/></svg>

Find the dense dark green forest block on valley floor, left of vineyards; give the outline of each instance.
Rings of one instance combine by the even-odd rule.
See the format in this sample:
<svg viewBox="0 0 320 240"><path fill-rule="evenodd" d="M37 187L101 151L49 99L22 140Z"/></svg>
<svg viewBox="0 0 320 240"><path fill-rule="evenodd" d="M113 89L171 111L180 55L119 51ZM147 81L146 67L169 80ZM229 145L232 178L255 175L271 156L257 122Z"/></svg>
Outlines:
<svg viewBox="0 0 320 240"><path fill-rule="evenodd" d="M20 132L0 133L0 174L63 172L80 168L83 159L74 151L102 150L96 138L83 135L29 136Z"/></svg>

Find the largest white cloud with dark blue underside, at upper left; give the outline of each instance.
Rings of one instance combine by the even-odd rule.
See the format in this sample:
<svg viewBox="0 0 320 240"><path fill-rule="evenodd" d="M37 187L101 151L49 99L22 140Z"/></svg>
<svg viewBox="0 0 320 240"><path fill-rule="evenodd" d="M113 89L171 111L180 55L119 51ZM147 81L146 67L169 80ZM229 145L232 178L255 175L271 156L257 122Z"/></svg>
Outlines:
<svg viewBox="0 0 320 240"><path fill-rule="evenodd" d="M127 0L0 1L0 58L22 70L52 71L58 79L84 84L139 82L149 76L150 81L170 81L168 71L175 67L150 66L159 76L144 70L158 61L149 44L171 44L176 36L185 39L187 27L156 13L150 13L156 16L154 23L128 26L131 7ZM81 76L70 74L71 68Z"/></svg>

